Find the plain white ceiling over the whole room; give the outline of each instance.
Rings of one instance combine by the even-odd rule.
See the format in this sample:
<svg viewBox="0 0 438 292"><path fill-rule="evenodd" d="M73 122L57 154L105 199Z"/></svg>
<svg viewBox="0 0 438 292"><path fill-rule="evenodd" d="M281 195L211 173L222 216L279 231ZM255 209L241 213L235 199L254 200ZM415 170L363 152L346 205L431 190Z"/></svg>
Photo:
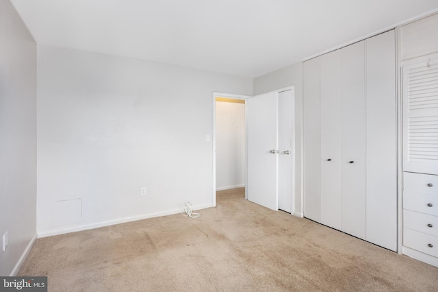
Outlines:
<svg viewBox="0 0 438 292"><path fill-rule="evenodd" d="M11 0L36 42L257 77L438 0Z"/></svg>

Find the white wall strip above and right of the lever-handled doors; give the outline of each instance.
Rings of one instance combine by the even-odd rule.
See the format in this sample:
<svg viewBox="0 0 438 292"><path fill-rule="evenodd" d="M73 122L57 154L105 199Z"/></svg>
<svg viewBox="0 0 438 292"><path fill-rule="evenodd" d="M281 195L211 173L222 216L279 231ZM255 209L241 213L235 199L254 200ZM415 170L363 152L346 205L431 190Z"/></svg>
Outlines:
<svg viewBox="0 0 438 292"><path fill-rule="evenodd" d="M302 63L298 62L254 79L254 95L295 86L294 214L302 216Z"/></svg>

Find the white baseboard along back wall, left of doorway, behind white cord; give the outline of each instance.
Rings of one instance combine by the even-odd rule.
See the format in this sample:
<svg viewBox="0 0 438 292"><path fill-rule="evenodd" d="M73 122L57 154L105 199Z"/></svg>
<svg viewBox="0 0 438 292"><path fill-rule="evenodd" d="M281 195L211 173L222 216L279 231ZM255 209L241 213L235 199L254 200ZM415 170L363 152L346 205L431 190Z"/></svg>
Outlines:
<svg viewBox="0 0 438 292"><path fill-rule="evenodd" d="M196 205L196 206L193 206L193 210L201 210L201 209L210 208L210 207L213 207L213 205L211 205L211 204ZM68 226L68 227L64 227L64 228L57 228L57 229L53 229L53 230L38 232L38 238L40 239L42 237L47 237L47 236L54 236L54 235L71 233L71 232L90 230L90 229L94 229L94 228L112 226L112 225L116 225L116 224L120 224L120 223L127 223L127 222L149 219L149 218L154 218L154 217L175 215L175 214L178 214L181 212L184 212L183 208L178 208L178 209L174 209L174 210L167 210L167 211L163 211L163 212L155 212L155 213L139 215L139 216L125 217L125 218L114 219L114 220L110 220L110 221L103 221L103 222L98 222L98 223L85 224L85 225L80 225L80 226Z"/></svg>

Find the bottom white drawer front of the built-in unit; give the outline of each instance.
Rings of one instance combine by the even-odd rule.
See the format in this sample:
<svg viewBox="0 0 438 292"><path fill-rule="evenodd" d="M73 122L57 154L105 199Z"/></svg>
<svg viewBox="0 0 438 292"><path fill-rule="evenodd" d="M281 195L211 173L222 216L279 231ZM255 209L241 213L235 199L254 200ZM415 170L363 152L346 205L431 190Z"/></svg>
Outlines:
<svg viewBox="0 0 438 292"><path fill-rule="evenodd" d="M403 245L438 257L438 237L403 228Z"/></svg>

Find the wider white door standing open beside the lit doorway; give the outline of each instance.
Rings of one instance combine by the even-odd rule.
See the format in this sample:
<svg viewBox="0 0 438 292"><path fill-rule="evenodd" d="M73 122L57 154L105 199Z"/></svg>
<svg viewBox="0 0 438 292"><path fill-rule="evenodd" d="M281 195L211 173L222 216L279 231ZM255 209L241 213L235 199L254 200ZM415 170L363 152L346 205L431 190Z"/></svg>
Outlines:
<svg viewBox="0 0 438 292"><path fill-rule="evenodd" d="M257 95L248 104L248 200L278 210L278 93Z"/></svg>

